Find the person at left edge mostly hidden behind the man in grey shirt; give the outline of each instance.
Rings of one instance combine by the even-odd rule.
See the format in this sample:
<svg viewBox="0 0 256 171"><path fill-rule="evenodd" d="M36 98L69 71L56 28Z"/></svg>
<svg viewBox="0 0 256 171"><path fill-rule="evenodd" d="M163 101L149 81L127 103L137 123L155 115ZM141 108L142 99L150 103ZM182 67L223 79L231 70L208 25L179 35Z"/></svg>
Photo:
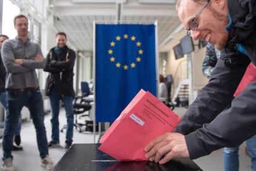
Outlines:
<svg viewBox="0 0 256 171"><path fill-rule="evenodd" d="M2 106L4 107L5 111L7 111L7 101L6 101L6 68L4 68L4 64L2 63L2 57L1 57L1 47L2 43L6 41L8 36L1 34L0 35L0 101ZM17 146L12 145L12 150L18 151L22 150L22 146L20 145L20 130L21 130L21 124L22 124L22 116L20 115L19 123L17 125L17 129L14 132L14 141Z"/></svg>

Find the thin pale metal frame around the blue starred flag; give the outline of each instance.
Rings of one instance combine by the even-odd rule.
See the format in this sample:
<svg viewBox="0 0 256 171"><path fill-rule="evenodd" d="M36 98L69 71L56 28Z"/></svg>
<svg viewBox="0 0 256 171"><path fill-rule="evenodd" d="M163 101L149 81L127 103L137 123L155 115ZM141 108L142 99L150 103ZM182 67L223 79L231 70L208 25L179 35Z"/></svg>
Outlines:
<svg viewBox="0 0 256 171"><path fill-rule="evenodd" d="M115 20L115 21L93 21L93 78L95 78L95 73L96 73L96 25L98 24L114 24L114 25L121 25L121 24L130 24L130 25L155 25L155 68L156 68L156 97L158 97L158 84L159 82L159 77L158 77L158 23L157 21L121 21L121 20ZM93 85L95 84L95 79L93 79ZM96 101L95 101L95 95L96 91L95 88L96 86L93 86L93 92L94 92L94 105L92 109L92 115L93 115L93 143L99 143L100 138L103 135L103 132L101 132L101 123L104 123L105 125L105 130L108 129L110 126L110 122L98 122L98 139L96 140Z"/></svg>

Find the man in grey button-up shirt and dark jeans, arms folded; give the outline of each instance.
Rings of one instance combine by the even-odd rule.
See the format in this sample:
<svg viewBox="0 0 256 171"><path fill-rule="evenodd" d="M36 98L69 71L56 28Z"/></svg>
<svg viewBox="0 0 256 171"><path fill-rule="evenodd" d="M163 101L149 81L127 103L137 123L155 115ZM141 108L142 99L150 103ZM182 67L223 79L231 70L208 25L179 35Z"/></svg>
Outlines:
<svg viewBox="0 0 256 171"><path fill-rule="evenodd" d="M20 111L27 106L36 130L36 142L40 152L42 167L52 170L53 160L49 157L45 130L45 111L35 69L45 67L45 58L40 46L28 38L28 18L14 17L17 37L2 44L2 61L6 68L7 116L2 141L3 170L16 170L12 164L12 138L19 122ZM33 157L33 156L30 156ZM30 157L28 160L30 160Z"/></svg>

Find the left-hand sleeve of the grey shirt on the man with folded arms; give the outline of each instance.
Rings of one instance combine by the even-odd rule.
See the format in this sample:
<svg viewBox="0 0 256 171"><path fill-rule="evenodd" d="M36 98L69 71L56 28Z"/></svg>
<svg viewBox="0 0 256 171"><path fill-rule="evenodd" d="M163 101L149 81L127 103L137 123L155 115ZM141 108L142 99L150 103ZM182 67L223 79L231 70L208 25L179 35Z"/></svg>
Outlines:
<svg viewBox="0 0 256 171"><path fill-rule="evenodd" d="M31 68L27 68L14 62L14 52L12 51L9 41L4 41L2 44L1 55L2 62L4 63L8 73L26 73L28 71L32 71Z"/></svg>

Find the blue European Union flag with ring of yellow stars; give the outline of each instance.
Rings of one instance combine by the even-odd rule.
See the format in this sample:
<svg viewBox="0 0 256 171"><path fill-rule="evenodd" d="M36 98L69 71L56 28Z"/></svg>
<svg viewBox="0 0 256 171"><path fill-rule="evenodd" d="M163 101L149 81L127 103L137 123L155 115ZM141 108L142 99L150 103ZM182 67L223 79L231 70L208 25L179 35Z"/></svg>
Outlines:
<svg viewBox="0 0 256 171"><path fill-rule="evenodd" d="M113 122L139 92L156 95L155 25L96 24L96 122Z"/></svg>

